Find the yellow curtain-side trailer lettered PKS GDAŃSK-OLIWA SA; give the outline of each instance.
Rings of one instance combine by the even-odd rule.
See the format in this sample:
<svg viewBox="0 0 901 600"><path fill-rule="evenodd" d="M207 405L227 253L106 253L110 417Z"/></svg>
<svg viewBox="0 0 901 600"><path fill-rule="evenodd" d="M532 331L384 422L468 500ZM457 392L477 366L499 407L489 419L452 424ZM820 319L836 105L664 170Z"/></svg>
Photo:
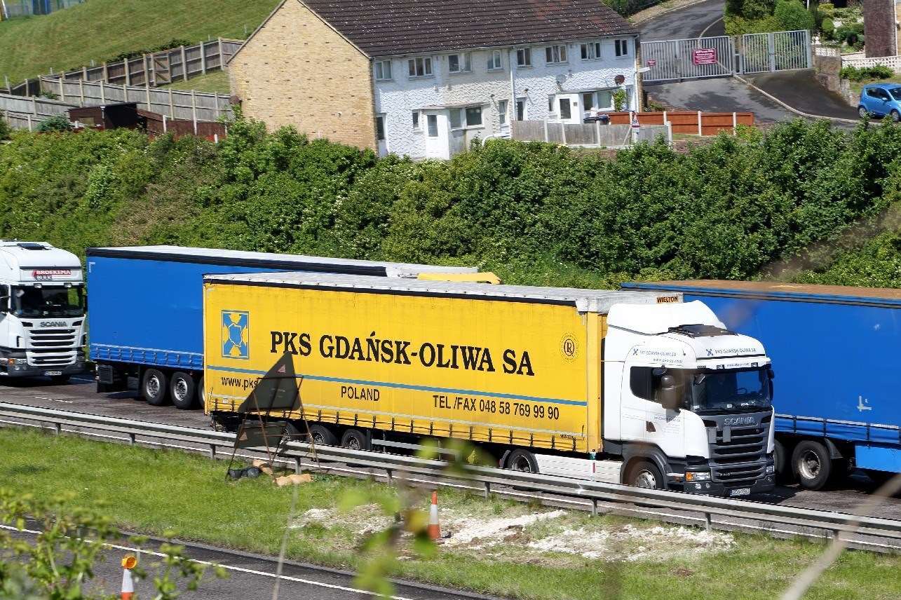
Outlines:
<svg viewBox="0 0 901 600"><path fill-rule="evenodd" d="M423 436L600 450L614 302L654 293L365 276L205 277L207 412L233 412L286 353L305 414Z"/></svg>

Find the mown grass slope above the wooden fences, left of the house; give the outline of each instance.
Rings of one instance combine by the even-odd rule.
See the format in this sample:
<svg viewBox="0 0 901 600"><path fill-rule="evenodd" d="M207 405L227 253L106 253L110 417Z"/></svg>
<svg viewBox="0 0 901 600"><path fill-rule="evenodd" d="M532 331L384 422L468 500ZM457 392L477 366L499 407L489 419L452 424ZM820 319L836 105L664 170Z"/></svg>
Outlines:
<svg viewBox="0 0 901 600"><path fill-rule="evenodd" d="M173 38L243 38L278 0L91 0L46 16L0 23L0 77L17 82L80 67Z"/></svg>

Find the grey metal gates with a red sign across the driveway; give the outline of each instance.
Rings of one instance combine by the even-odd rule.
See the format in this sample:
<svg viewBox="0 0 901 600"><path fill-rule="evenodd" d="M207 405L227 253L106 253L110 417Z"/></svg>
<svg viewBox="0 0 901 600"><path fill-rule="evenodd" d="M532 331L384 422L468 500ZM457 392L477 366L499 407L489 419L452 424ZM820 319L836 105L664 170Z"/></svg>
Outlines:
<svg viewBox="0 0 901 600"><path fill-rule="evenodd" d="M647 83L812 68L810 32L642 41L642 67Z"/></svg>

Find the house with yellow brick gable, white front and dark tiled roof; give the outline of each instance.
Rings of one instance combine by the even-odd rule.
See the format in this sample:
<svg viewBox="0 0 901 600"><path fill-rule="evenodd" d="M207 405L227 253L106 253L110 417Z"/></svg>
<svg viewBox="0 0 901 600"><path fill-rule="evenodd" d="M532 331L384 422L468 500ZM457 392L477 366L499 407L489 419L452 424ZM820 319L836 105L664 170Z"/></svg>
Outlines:
<svg viewBox="0 0 901 600"><path fill-rule="evenodd" d="M283 0L232 57L269 128L446 159L512 120L639 104L638 32L601 0Z"/></svg>

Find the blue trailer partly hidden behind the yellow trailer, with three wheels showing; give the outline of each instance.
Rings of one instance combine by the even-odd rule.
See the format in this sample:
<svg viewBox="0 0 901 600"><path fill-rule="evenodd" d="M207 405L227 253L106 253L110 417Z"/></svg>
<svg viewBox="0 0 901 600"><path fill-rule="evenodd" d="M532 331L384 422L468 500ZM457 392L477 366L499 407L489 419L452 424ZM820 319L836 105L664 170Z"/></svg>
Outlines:
<svg viewBox="0 0 901 600"><path fill-rule="evenodd" d="M178 408L204 400L205 274L307 271L460 279L478 271L177 246L88 248L86 255L88 350L96 363L97 391L137 389L152 405L171 401Z"/></svg>

